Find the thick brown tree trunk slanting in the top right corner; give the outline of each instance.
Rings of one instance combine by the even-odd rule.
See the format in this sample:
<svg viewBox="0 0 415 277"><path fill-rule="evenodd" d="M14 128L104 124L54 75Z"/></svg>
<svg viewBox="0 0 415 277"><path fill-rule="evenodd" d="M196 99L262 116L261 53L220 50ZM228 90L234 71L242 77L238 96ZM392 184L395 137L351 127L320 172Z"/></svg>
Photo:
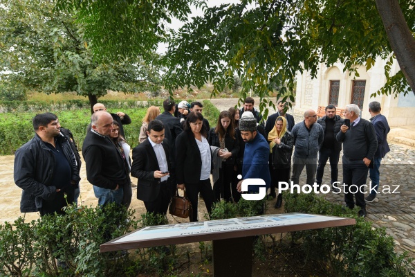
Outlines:
<svg viewBox="0 0 415 277"><path fill-rule="evenodd" d="M415 38L403 17L398 0L376 0L376 7L400 70L415 93Z"/></svg>

